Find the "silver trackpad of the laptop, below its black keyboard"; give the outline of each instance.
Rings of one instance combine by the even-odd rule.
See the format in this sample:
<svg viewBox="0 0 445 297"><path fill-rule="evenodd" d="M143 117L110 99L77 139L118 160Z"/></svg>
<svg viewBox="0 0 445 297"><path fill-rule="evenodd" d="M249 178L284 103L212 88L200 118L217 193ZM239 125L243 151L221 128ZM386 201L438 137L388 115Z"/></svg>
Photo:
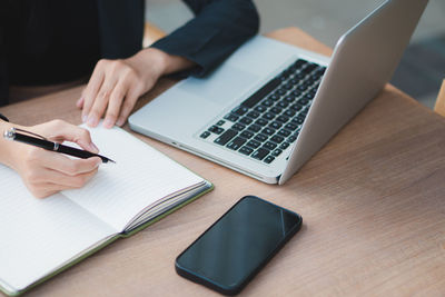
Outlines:
<svg viewBox="0 0 445 297"><path fill-rule="evenodd" d="M233 100L239 99L257 81L258 76L225 65L205 78L189 78L179 86L179 89L217 105L227 106Z"/></svg>

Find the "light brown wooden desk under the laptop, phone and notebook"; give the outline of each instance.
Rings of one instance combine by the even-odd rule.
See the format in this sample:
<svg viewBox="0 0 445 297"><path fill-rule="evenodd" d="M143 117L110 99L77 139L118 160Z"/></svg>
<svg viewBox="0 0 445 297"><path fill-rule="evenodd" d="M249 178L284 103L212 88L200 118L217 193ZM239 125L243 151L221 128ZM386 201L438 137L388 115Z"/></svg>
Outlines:
<svg viewBox="0 0 445 297"><path fill-rule="evenodd" d="M295 28L270 36L330 52ZM162 80L142 101L172 83ZM79 123L75 102L80 91L0 111L26 125L57 117ZM215 190L30 296L220 296L179 277L175 258L248 194L301 214L304 227L241 295L445 294L445 120L400 91L387 87L285 186L259 182L140 137L212 181Z"/></svg>

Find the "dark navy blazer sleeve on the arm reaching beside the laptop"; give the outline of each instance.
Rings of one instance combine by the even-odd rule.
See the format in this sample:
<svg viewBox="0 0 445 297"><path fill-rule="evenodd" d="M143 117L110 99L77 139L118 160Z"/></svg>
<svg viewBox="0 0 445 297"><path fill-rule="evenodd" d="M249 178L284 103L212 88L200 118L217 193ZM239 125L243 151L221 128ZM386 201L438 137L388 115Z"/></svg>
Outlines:
<svg viewBox="0 0 445 297"><path fill-rule="evenodd" d="M185 57L198 67L181 75L205 76L258 32L251 0L185 0L196 17L151 47Z"/></svg>

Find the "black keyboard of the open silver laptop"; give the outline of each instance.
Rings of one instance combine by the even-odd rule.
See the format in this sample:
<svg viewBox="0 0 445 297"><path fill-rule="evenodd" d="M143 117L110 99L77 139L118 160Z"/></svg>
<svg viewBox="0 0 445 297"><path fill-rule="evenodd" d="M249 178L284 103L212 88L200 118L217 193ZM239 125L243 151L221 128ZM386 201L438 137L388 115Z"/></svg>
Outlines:
<svg viewBox="0 0 445 297"><path fill-rule="evenodd" d="M297 140L325 71L296 60L199 137L271 164Z"/></svg>

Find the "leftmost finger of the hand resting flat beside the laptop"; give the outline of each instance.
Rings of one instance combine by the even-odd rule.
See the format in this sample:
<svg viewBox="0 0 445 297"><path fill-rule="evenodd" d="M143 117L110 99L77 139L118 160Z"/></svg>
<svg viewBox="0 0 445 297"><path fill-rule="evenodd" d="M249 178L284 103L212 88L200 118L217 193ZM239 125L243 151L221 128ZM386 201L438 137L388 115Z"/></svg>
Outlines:
<svg viewBox="0 0 445 297"><path fill-rule="evenodd" d="M87 88L83 91L83 109L82 109L82 122L86 122L95 98L99 92L100 86L102 86L105 79L105 68L107 60L100 60L92 71L91 78L88 81Z"/></svg>

